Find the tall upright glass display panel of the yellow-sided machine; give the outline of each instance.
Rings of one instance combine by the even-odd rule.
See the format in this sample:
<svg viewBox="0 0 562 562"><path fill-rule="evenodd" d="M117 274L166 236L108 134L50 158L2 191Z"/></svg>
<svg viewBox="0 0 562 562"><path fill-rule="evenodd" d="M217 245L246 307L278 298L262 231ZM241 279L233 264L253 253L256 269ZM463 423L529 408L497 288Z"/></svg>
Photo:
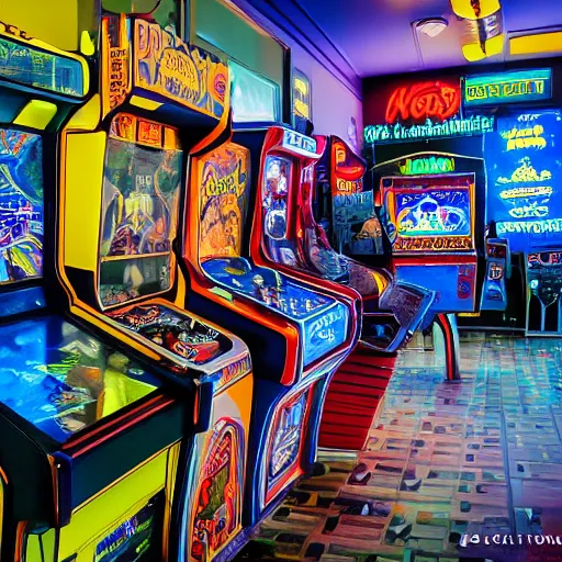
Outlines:
<svg viewBox="0 0 562 562"><path fill-rule="evenodd" d="M103 176L102 306L170 288L181 157L177 130L123 113L113 120Z"/></svg>

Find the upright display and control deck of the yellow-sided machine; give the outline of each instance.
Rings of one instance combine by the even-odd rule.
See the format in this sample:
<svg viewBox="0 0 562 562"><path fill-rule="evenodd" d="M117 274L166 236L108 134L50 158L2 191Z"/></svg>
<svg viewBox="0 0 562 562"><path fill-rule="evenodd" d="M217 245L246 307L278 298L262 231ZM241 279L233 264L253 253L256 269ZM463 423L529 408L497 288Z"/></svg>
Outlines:
<svg viewBox="0 0 562 562"><path fill-rule="evenodd" d="M99 295L103 307L170 289L175 271L182 151L172 127L121 114L111 125L103 177ZM203 323L165 304L138 304L108 315L195 364L232 348Z"/></svg>

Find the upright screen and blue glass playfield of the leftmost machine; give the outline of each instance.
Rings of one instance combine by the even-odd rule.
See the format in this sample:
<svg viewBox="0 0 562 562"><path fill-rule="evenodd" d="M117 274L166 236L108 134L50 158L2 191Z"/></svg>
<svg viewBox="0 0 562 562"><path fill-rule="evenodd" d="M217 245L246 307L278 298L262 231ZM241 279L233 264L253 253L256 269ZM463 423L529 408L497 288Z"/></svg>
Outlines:
<svg viewBox="0 0 562 562"><path fill-rule="evenodd" d="M40 135L0 128L0 284L23 288L42 277L42 167ZM0 402L56 441L159 386L59 316L3 325L0 339Z"/></svg>

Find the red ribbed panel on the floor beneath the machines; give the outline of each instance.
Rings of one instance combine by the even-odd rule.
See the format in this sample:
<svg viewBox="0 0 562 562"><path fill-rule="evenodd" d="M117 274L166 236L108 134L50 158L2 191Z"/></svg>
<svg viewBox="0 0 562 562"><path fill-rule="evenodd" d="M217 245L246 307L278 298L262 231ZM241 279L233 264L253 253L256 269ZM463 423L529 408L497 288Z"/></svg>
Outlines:
<svg viewBox="0 0 562 562"><path fill-rule="evenodd" d="M322 414L319 448L363 449L395 362L396 353L376 353L361 344L357 346L329 383Z"/></svg>

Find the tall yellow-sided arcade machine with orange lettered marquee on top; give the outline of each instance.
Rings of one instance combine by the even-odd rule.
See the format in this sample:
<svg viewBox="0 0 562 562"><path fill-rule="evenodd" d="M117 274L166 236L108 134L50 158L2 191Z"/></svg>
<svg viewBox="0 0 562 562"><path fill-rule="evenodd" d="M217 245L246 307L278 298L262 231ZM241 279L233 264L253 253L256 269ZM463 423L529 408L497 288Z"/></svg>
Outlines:
<svg viewBox="0 0 562 562"><path fill-rule="evenodd" d="M251 366L240 339L183 310L172 244L187 155L224 127L227 68L135 16L103 16L101 44L102 120L92 98L63 133L59 273L70 311L156 362L191 408L195 435L169 468L169 548L210 562L241 531Z"/></svg>

